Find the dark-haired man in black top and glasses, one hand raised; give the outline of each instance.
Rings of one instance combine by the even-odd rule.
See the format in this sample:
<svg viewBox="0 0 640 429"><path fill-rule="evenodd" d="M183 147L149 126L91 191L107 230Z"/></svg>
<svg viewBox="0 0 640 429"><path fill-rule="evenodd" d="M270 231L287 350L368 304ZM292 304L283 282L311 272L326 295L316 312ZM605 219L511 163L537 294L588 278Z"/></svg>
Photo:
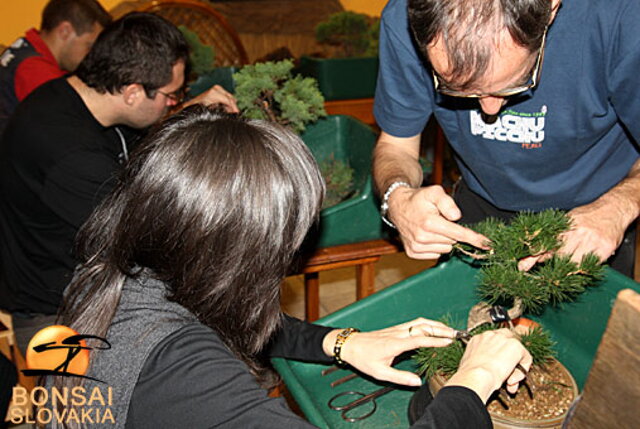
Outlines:
<svg viewBox="0 0 640 429"><path fill-rule="evenodd" d="M45 83L0 141L0 306L25 350L51 325L80 226L115 185L137 130L181 106L188 45L171 23L133 13L98 37L76 73ZM220 87L185 104L222 104Z"/></svg>

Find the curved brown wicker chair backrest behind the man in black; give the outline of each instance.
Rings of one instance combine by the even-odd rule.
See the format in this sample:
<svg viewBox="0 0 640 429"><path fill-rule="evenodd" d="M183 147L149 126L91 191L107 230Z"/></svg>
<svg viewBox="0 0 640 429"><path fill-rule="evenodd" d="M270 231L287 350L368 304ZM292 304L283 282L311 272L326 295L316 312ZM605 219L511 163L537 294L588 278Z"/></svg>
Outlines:
<svg viewBox="0 0 640 429"><path fill-rule="evenodd" d="M243 66L249 62L238 33L218 11L196 0L154 0L136 8L184 25L206 45L213 47L218 67Z"/></svg>

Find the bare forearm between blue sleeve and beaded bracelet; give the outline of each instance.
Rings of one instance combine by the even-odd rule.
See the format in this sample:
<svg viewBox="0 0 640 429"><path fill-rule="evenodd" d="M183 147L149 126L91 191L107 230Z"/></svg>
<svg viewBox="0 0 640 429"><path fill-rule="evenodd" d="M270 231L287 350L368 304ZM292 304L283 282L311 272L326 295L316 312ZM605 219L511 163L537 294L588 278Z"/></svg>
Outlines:
<svg viewBox="0 0 640 429"><path fill-rule="evenodd" d="M417 139L417 146L414 139ZM407 182L416 188L420 186L419 139L419 136L403 139L406 144L398 144L380 138L373 152L373 178L379 194L396 181Z"/></svg>

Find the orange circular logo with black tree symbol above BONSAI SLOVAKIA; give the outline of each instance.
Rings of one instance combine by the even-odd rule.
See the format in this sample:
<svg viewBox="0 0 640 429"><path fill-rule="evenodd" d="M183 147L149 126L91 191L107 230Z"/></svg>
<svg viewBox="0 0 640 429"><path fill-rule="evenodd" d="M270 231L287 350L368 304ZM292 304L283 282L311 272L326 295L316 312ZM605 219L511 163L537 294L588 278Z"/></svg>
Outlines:
<svg viewBox="0 0 640 429"><path fill-rule="evenodd" d="M89 350L68 326L47 326L29 341L26 361L29 369L84 375L89 367Z"/></svg>

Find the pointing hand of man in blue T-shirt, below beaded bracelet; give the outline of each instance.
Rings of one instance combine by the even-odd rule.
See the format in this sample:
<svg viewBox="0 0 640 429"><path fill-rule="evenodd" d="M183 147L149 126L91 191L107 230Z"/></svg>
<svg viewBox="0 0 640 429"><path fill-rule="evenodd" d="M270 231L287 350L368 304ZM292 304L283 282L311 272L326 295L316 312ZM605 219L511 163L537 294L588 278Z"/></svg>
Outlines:
<svg viewBox="0 0 640 429"><path fill-rule="evenodd" d="M412 258L437 259L456 242L487 249L487 237L455 223L462 214L441 186L396 189L389 197L388 215Z"/></svg>

